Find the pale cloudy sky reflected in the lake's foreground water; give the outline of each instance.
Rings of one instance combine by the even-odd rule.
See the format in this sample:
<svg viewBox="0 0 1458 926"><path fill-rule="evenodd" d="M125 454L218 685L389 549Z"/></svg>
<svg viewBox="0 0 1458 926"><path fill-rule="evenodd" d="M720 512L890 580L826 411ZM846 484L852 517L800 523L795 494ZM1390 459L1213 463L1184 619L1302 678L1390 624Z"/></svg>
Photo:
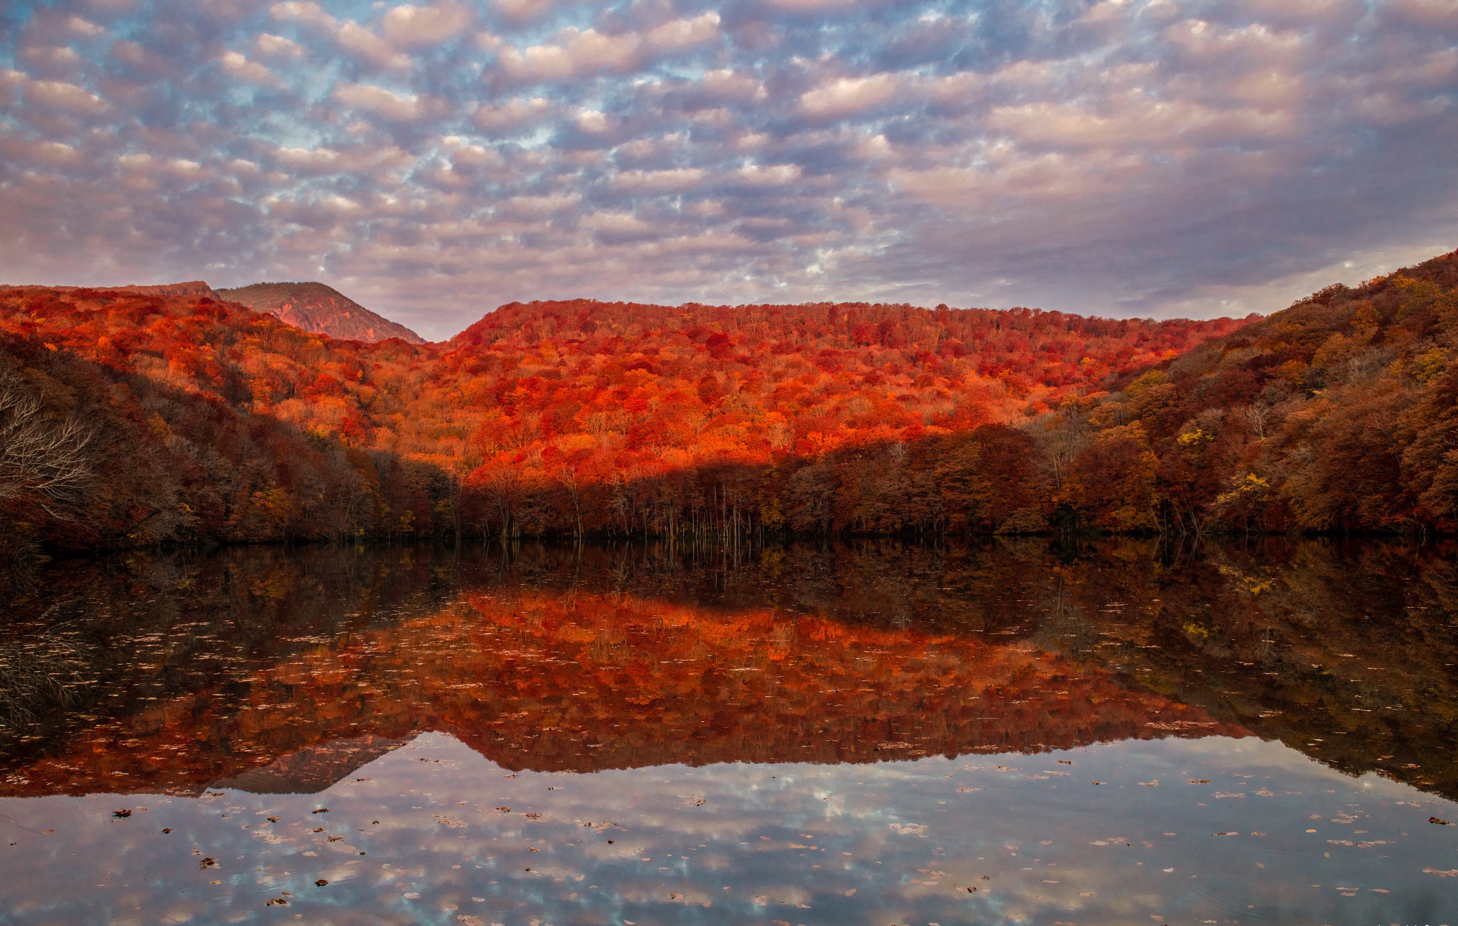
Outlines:
<svg viewBox="0 0 1458 926"><path fill-rule="evenodd" d="M3 799L0 919L1454 922L1430 815L1254 738L547 774L424 734L319 795Z"/></svg>

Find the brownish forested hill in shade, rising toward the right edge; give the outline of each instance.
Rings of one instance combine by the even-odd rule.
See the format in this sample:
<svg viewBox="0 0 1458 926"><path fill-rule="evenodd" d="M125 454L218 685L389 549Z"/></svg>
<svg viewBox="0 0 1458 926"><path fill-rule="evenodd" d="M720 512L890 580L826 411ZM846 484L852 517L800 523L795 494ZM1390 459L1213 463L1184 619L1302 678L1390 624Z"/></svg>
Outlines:
<svg viewBox="0 0 1458 926"><path fill-rule="evenodd" d="M1102 528L1452 531L1455 349L1458 251L1330 286L1066 405L1060 500Z"/></svg>

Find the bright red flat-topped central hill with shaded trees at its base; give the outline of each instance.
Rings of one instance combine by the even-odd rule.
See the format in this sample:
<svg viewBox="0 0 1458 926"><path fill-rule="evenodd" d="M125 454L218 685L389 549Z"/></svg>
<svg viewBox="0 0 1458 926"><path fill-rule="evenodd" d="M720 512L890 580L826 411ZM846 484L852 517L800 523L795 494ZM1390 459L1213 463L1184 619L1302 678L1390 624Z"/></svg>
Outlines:
<svg viewBox="0 0 1458 926"><path fill-rule="evenodd" d="M445 346L432 392L475 420L459 436L481 459L472 518L490 529L903 529L919 526L917 510L835 513L846 503L818 471L802 472L827 455L904 456L1021 421L1239 325L866 303L512 303ZM838 481L850 494L866 487ZM927 526L987 521L970 521L965 505L936 519Z"/></svg>

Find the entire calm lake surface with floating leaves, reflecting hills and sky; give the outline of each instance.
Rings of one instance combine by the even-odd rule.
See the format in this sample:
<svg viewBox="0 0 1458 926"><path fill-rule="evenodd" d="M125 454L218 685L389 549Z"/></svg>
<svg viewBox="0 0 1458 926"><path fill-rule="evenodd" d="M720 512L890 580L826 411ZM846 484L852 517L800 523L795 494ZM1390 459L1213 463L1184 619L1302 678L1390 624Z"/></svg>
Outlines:
<svg viewBox="0 0 1458 926"><path fill-rule="evenodd" d="M248 548L0 601L0 923L1458 923L1452 548Z"/></svg>

